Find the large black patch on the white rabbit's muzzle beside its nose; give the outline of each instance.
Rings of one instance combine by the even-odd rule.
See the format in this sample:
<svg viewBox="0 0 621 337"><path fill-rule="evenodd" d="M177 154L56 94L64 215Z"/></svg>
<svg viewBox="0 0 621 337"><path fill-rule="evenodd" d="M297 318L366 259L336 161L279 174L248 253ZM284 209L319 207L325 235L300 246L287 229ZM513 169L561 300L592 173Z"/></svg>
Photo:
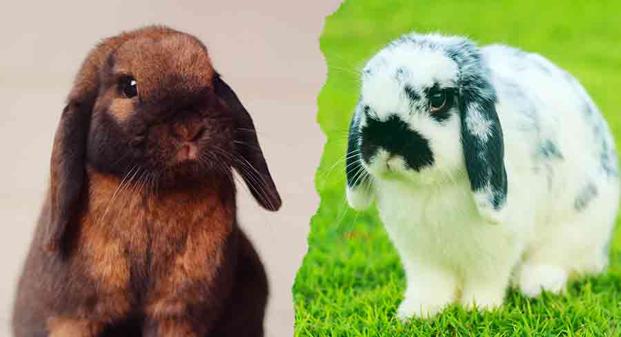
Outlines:
<svg viewBox="0 0 621 337"><path fill-rule="evenodd" d="M433 165L433 153L428 140L410 130L408 124L397 115L390 115L386 121L367 116L367 125L362 128L362 159L371 162L377 150L384 148L388 153L400 155L415 171Z"/></svg>

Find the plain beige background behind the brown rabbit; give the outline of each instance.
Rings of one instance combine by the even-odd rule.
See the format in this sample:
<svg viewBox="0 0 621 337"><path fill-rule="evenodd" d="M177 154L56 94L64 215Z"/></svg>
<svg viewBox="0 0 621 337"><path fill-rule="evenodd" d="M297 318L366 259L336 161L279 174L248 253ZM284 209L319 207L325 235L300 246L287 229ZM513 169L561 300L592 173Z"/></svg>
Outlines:
<svg viewBox="0 0 621 337"><path fill-rule="evenodd" d="M181 2L181 1L175 1ZM324 136L315 122L326 66L321 1L12 1L0 16L0 336L10 336L15 282L48 182L52 137L79 63L121 30L164 23L197 35L255 119L284 200L259 209L245 189L243 226L266 264L267 336L293 335L291 287L318 204L313 186Z"/></svg>

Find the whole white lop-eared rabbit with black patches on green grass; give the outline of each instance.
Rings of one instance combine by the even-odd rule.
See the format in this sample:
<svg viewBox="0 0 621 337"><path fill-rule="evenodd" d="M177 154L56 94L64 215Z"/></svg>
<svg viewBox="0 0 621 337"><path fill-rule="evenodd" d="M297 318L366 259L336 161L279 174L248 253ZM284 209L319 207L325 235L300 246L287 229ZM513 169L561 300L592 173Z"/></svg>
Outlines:
<svg viewBox="0 0 621 337"><path fill-rule="evenodd" d="M619 201L609 128L586 90L540 55L409 34L362 73L347 198L376 200L407 289L397 316L502 304L598 273Z"/></svg>

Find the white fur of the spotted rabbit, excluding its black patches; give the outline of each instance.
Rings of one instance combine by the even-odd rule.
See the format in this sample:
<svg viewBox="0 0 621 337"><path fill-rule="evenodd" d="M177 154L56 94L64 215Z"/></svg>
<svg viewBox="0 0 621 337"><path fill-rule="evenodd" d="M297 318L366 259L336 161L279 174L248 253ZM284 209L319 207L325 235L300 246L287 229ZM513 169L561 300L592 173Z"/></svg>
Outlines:
<svg viewBox="0 0 621 337"><path fill-rule="evenodd" d="M412 36L435 44L460 41ZM598 273L607 265L605 247L618 211L619 182L602 173L598 139L603 137L611 151L614 143L598 109L578 81L540 55L504 46L480 52L491 70L504 133L509 188L501 215L477 211L477 204L489 200L486 193L471 190L459 118L433 121L420 107L412 109L403 93L405 84L415 90L434 81L455 84L460 69L453 59L402 42L373 57L366 66L371 71L362 78L362 104L380 119L397 113L428 139L435 158L433 166L416 172L380 150L373 162L363 163L371 185L348 188L348 200L358 209L376 198L400 254L407 279L397 313L402 319L433 316L455 301L497 307L512 278L526 296L538 296L542 289L559 292L571 273ZM405 70L402 81L394 76L398 68ZM585 102L594 112L593 122L602 124L597 132L585 122ZM466 127L484 140L489 123L477 115L466 119ZM545 139L553 139L557 158L538 155ZM597 195L578 210L577 195L589 183Z"/></svg>

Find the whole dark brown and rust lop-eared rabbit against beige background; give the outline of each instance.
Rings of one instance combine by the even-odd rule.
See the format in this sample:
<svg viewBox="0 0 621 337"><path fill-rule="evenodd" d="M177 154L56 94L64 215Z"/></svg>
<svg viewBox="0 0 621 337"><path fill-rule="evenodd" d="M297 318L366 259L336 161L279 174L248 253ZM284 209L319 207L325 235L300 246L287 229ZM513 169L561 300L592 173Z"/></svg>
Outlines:
<svg viewBox="0 0 621 337"><path fill-rule="evenodd" d="M262 336L267 280L233 168L279 209L252 119L198 39L150 26L101 42L57 129L15 336Z"/></svg>

